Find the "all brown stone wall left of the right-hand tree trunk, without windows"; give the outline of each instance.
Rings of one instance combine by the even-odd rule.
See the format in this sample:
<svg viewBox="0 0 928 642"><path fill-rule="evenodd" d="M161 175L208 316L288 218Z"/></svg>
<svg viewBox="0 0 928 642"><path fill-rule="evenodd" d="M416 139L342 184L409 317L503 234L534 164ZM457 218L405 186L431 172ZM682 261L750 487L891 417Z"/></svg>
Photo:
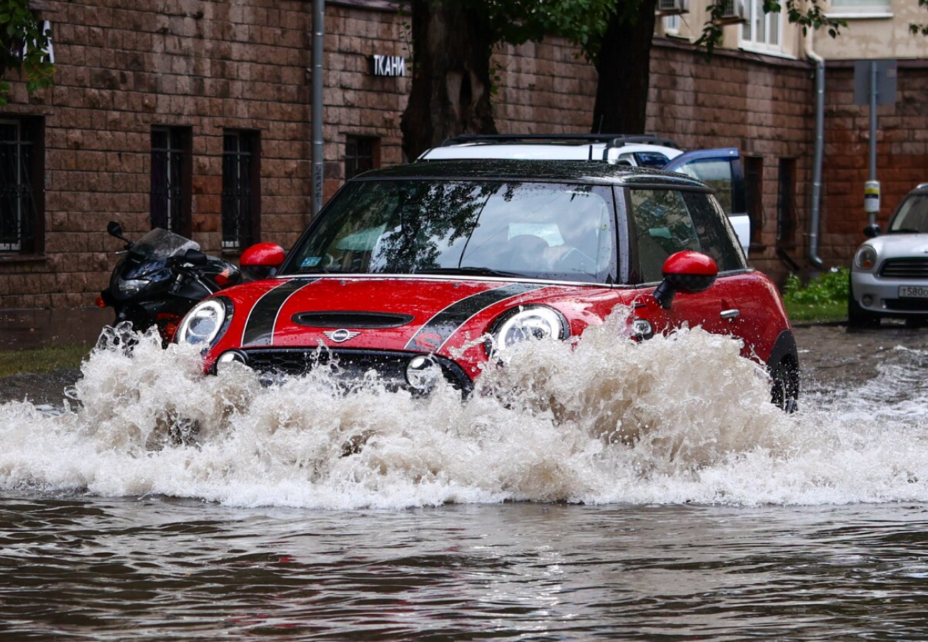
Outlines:
<svg viewBox="0 0 928 642"><path fill-rule="evenodd" d="M411 58L407 17L386 2L329 2L325 182L344 182L345 137L379 138L380 164L402 162L406 77L370 58ZM0 118L45 119L44 253L0 253L0 308L92 305L122 244L150 228L152 126L192 133L192 236L221 251L223 131L260 132L261 239L289 247L311 212L311 7L302 0L47 0L58 62L53 88L13 83ZM373 8L371 8L373 6ZM500 131L586 131L595 72L557 41L501 47Z"/></svg>

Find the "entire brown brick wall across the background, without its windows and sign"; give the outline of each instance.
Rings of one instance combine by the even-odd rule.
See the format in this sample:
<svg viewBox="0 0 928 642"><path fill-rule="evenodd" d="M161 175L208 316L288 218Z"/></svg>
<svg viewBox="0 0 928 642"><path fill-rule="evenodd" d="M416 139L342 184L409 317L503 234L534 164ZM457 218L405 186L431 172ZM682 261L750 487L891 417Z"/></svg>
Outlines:
<svg viewBox="0 0 928 642"><path fill-rule="evenodd" d="M376 4L376 3L375 3ZM262 240L290 246L310 205L311 3L303 0L48 0L56 85L27 96L13 83L6 116L45 119L45 253L0 254L0 308L84 306L106 287L121 244L150 226L150 134L189 127L193 238L221 246L223 131L260 132ZM345 137L376 136L383 165L403 161L400 116L411 75L407 18L332 0L325 56L325 198L344 180ZM406 77L375 77L373 55L406 58ZM500 132L586 132L596 72L557 39L501 45ZM832 69L832 67L834 69ZM866 110L851 105L852 71L830 65L821 254L846 263L865 217ZM928 180L928 71L903 64L900 101L881 108L883 211ZM684 148L737 147L760 169L759 235L752 263L781 280L777 252L781 159L795 160L796 243L804 263L812 158L813 70L804 61L719 51L711 64L689 45L657 39L651 60L648 130ZM884 169L883 169L884 168ZM885 221L885 215L883 216ZM780 248L784 250L784 248Z"/></svg>

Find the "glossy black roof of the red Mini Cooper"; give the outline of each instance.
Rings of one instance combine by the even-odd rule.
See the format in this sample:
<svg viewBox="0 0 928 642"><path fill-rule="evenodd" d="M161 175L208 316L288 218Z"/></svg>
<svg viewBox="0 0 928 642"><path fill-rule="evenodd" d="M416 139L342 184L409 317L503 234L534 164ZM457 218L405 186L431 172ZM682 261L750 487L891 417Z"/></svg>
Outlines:
<svg viewBox="0 0 928 642"><path fill-rule="evenodd" d="M587 183L626 187L677 187L711 192L712 188L682 173L614 165L602 160L434 160L393 165L362 173L352 181L394 179L530 181Z"/></svg>

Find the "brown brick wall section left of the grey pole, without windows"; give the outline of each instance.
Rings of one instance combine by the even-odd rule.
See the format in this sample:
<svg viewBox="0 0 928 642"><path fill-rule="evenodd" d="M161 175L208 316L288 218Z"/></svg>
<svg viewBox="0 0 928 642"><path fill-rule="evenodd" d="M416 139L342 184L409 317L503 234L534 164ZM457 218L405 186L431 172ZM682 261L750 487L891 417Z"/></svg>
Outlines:
<svg viewBox="0 0 928 642"><path fill-rule="evenodd" d="M56 84L7 115L45 116L45 257L0 260L0 307L84 306L109 282L119 241L150 228L150 135L193 135L192 227L220 247L223 129L260 131L262 229L302 227L309 195L309 16L299 0L48 2ZM157 8L156 8L157 6Z"/></svg>

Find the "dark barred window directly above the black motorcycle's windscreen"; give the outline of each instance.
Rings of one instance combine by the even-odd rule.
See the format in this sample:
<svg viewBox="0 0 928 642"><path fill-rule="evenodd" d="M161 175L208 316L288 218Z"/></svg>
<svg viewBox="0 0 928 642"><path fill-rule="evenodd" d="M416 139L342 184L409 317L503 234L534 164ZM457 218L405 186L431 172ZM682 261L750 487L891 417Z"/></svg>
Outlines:
<svg viewBox="0 0 928 642"><path fill-rule="evenodd" d="M151 226L190 236L191 130L151 130Z"/></svg>

